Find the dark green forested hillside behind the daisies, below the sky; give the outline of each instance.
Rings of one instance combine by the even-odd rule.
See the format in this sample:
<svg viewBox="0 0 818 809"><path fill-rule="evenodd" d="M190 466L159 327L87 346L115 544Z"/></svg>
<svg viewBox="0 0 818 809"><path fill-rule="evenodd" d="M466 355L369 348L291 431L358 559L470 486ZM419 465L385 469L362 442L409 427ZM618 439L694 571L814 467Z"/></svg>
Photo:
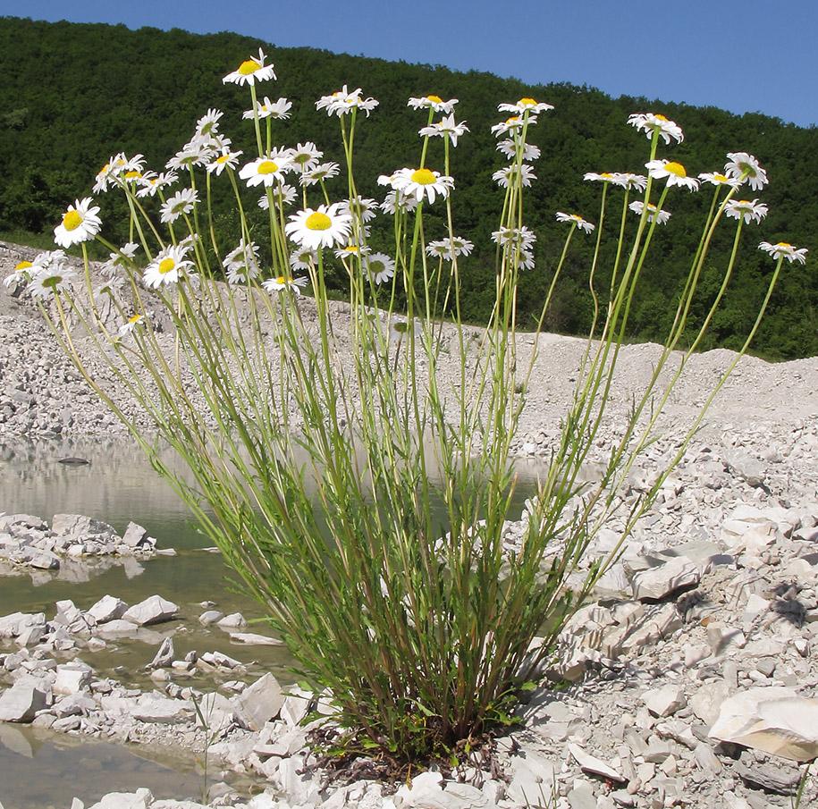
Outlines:
<svg viewBox="0 0 818 809"><path fill-rule="evenodd" d="M684 142L662 149L661 154L684 164L692 176L720 171L727 152L754 154L766 168L770 185L761 192L741 193L762 198L770 213L761 224L746 227L729 297L704 348L738 348L744 340L773 268L757 244L783 240L811 249L813 260L805 266L787 265L754 350L769 358L818 354L818 278L812 268L818 252L814 226L818 131L814 128L714 107L612 99L594 88L564 83L530 86L484 72L451 72L312 48L281 48L230 33L200 36L180 29L132 31L124 26L0 18L0 238L23 240L50 234L65 206L89 195L95 175L117 152L142 153L149 168L163 170L208 108L223 111L222 131L235 147L246 155L252 153L252 128L241 120L249 107L249 94L223 84L222 77L256 54L259 46L278 75L276 82L260 88L260 95L273 100L287 97L292 102L291 118L275 122L277 146L311 140L325 151L325 159L342 162L338 121L316 112L316 100L343 84L361 87L366 96L378 99L380 105L368 120L362 120L356 135L358 190L378 200L384 198L384 189L376 184L379 174L417 164L421 142L417 130L426 124L426 117L407 107L408 98L434 93L460 99L456 114L459 121L467 122L470 133L453 152L456 193L452 199L455 231L476 244L460 266L464 316L474 321L485 319L485 307L494 296L491 232L497 226L503 194L492 173L502 167L504 158L495 149L490 127L505 117L497 112L499 103L526 96L555 107L540 116L530 135L542 156L534 164L538 180L527 202L526 224L537 232L538 240L535 269L525 275L521 288L524 323L533 322L559 259L566 231L554 221L555 212L579 213L596 221L600 187L584 182L583 174L645 171L646 140L627 125L628 114L662 113L678 122L685 131ZM430 149L428 164L443 169L442 140L433 139ZM345 197L343 176L334 182L331 193L335 190L337 198ZM230 232L234 220L229 207L222 204L232 193L229 183L214 183L214 190L217 228ZM666 207L672 217L657 232L652 264L645 267L644 289L630 322L632 338L658 339L666 331L711 196L706 189L698 194L679 190L669 198ZM106 235L124 240L126 234L116 231L115 218L106 216L114 200L100 196L97 203L103 206ZM430 210L434 212L434 207ZM606 222L609 242L616 219L609 214ZM434 220L429 224L433 231L434 224ZM390 235L387 217L376 219L375 246L381 239L386 247ZM426 235L434 239L440 234ZM726 262L732 228L717 234L716 241L719 249L712 253L713 262ZM592 238L574 240L547 328L582 333L590 322L586 276L593 245ZM610 250L603 258L610 261ZM697 326L695 316L706 311L706 291L722 268L705 267L705 295L691 328Z"/></svg>

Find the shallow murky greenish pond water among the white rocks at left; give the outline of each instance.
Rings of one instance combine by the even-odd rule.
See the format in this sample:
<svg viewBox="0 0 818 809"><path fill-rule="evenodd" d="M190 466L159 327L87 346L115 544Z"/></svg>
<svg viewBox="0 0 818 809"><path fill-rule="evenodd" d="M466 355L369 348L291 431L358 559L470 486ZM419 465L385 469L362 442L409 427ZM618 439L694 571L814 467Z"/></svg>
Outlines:
<svg viewBox="0 0 818 809"><path fill-rule="evenodd" d="M89 463L59 462L67 457ZM164 462L180 472L183 468L171 450ZM520 504L533 491L541 472L536 464L520 466ZM225 613L240 611L250 620L262 614L249 598L231 592L232 573L222 557L204 550L207 539L190 525L187 507L131 439L4 438L0 443L0 513L4 511L47 520L60 512L83 514L105 520L120 533L133 520L156 537L159 548L173 548L177 555L126 564L103 562L89 570L64 565L58 576L38 571L0 577L0 615L43 611L51 619L55 602L62 599L70 598L85 610L105 594L129 604L159 594L179 605L180 620L153 628L141 640L122 638L101 652L83 652L82 659L104 676L134 687L154 687L144 667L163 637L172 634L177 657L192 649L220 651L245 663L250 679L272 670L283 682L288 681L289 659L281 647L237 645L222 630L199 625L201 603L206 599ZM263 623L251 624L249 631L270 634ZM212 678L207 687L214 687ZM0 802L4 809L67 809L74 796L89 805L106 792L139 787L150 788L156 797L195 798L201 775L190 756L163 754L150 759L137 748L0 723Z"/></svg>

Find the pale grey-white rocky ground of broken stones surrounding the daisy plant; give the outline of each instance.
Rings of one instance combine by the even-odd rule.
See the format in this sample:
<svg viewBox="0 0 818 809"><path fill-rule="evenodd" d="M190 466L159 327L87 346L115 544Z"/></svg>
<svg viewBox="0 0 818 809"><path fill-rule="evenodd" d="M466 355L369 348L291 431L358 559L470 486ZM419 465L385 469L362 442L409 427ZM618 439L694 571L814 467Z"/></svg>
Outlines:
<svg viewBox="0 0 818 809"><path fill-rule="evenodd" d="M26 255L0 245L0 276ZM0 288L0 340L0 434L114 429L30 301L12 287ZM552 446L583 349L571 338L540 339L520 457L544 457ZM657 351L623 350L598 460L621 429L632 393L652 373ZM691 359L662 419L662 441L649 448L622 493L626 503L675 454L732 356L719 350ZM104 377L105 368L97 373ZM299 725L310 703L320 701L282 694L272 678L250 682L239 673L207 696L217 729L210 753L223 766L269 780L270 789L249 803L225 790L212 796L213 805L790 806L804 763L818 756L816 390L814 358L779 365L741 360L620 564L561 636L559 660L548 671L548 682L559 687L531 695L519 725L497 740L491 763L475 760L445 776L427 771L396 791L362 764L358 778L342 786L311 766L308 728ZM621 519L611 520L592 555L609 549L621 527ZM9 524L0 537L19 541L26 530ZM519 526L511 525L509 542L517 535ZM100 620L102 607L72 606L55 604L53 616L0 619L0 679L8 686L0 717L13 719L16 710L21 717L13 721L68 733L125 728L132 739L162 735L200 746L197 695L177 682L178 672L213 662L176 660L173 649L163 655L157 647L156 690L128 693L81 662L105 623L122 617L105 613ZM105 801L97 806L194 805L144 792ZM801 798L801 806L810 805L818 805L815 773Z"/></svg>

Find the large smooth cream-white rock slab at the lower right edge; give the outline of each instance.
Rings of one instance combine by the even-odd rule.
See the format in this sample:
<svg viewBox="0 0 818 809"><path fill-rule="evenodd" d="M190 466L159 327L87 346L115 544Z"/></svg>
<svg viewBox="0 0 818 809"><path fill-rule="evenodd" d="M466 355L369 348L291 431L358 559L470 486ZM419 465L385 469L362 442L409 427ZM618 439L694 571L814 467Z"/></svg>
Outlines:
<svg viewBox="0 0 818 809"><path fill-rule="evenodd" d="M818 700L791 688L749 688L721 704L710 737L810 762L818 757Z"/></svg>

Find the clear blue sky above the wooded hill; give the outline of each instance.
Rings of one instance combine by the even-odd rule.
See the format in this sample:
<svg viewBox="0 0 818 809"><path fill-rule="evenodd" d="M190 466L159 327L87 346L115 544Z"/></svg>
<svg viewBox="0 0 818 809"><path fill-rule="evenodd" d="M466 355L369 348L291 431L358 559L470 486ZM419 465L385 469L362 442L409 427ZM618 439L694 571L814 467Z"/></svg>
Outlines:
<svg viewBox="0 0 818 809"><path fill-rule="evenodd" d="M818 0L0 0L0 14L230 30L818 124Z"/></svg>

